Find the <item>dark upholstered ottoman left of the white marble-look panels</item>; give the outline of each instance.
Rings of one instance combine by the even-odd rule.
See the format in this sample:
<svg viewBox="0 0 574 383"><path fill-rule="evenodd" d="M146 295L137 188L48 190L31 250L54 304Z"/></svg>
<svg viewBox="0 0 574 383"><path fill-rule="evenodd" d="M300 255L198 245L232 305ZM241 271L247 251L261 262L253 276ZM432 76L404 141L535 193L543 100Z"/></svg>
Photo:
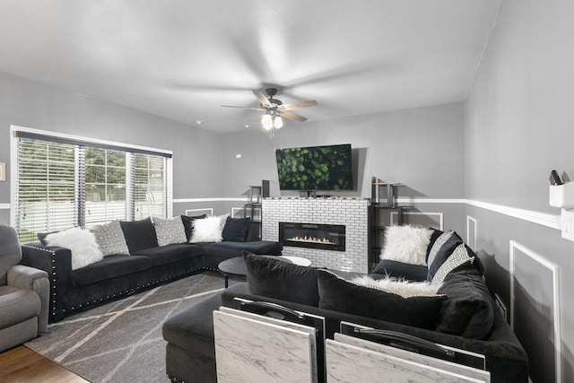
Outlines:
<svg viewBox="0 0 574 383"><path fill-rule="evenodd" d="M166 346L166 372L175 382L215 382L213 310L222 305L222 292L215 292L169 318L162 327Z"/></svg>

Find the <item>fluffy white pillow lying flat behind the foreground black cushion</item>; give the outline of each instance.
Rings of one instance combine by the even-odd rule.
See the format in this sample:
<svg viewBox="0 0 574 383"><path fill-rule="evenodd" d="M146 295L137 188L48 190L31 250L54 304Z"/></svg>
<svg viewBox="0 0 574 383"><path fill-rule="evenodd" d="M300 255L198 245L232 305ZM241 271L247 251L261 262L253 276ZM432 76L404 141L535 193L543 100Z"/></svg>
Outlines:
<svg viewBox="0 0 574 383"><path fill-rule="evenodd" d="M437 295L437 292L442 285L442 283L431 284L429 281L411 282L407 280L398 280L396 278L382 278L375 280L366 275L353 278L352 283L370 287L371 289L393 292L404 298Z"/></svg>

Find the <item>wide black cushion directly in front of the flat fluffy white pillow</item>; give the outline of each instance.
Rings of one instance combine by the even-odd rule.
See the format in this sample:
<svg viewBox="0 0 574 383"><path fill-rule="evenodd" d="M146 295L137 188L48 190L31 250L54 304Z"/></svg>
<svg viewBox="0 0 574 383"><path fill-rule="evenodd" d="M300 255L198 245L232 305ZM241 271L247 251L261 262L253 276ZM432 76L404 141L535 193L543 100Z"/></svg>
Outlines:
<svg viewBox="0 0 574 383"><path fill-rule="evenodd" d="M444 295L403 298L359 286L326 270L318 271L319 308L342 311L361 317L431 328L439 316Z"/></svg>

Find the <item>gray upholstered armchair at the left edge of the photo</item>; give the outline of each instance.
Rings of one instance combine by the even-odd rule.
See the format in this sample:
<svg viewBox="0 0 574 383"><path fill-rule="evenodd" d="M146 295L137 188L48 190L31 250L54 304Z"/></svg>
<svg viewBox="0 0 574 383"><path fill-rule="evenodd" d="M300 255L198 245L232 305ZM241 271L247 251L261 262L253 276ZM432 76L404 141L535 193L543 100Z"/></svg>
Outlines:
<svg viewBox="0 0 574 383"><path fill-rule="evenodd" d="M21 258L16 231L0 225L0 352L48 329L48 274L18 265Z"/></svg>

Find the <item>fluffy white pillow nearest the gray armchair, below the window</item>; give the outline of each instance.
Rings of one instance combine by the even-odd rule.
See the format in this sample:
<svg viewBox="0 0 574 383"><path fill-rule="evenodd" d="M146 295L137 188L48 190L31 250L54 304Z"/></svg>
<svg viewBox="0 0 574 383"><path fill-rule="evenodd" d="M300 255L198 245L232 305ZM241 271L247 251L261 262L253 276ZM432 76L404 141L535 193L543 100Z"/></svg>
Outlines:
<svg viewBox="0 0 574 383"><path fill-rule="evenodd" d="M72 228L46 236L48 246L69 248L72 251L72 270L91 265L104 258L91 231Z"/></svg>

